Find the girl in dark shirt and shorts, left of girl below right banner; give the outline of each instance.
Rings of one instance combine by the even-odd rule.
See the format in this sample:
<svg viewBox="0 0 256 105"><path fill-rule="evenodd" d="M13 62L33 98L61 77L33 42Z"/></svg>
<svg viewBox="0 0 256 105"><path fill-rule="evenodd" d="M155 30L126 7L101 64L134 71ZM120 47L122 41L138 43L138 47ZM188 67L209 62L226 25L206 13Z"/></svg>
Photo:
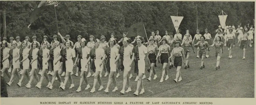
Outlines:
<svg viewBox="0 0 256 105"><path fill-rule="evenodd" d="M207 31L205 31L207 32ZM204 58L206 56L206 50L208 49L209 51L209 45L208 45L208 42L205 41L205 37L204 36L201 36L200 37L201 40L198 41L194 46L198 46L199 47L199 57L201 58L201 67L200 69L203 69L205 66L204 66Z"/></svg>

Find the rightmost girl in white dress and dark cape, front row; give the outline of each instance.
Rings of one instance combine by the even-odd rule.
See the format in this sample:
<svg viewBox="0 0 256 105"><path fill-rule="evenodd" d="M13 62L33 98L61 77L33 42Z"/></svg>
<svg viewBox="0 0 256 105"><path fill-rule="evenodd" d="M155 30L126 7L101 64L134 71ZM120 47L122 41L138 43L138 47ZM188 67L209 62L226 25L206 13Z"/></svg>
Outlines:
<svg viewBox="0 0 256 105"><path fill-rule="evenodd" d="M142 76L145 73L145 59L148 59L148 53L146 46L142 45L143 38L138 37L137 38L138 46L134 47L132 50L132 53L136 55L136 62L135 63L135 69L138 69L138 83L137 83L137 89L133 93L135 95L139 95L139 88L141 86L141 92L140 94L143 94L145 92Z"/></svg>

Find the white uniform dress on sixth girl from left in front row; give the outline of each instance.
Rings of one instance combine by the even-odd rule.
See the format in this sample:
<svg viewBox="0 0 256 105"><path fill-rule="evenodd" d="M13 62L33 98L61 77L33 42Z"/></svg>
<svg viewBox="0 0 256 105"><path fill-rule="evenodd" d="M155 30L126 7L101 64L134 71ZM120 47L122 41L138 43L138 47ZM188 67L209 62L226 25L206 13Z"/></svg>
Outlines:
<svg viewBox="0 0 256 105"><path fill-rule="evenodd" d="M59 47L56 47L54 50L53 50L53 70L54 71L59 71L59 70L61 70L61 68L60 68L60 61L58 61L56 64L55 64L55 62L56 62L56 60L57 60L57 58L59 57L59 56L61 56L60 55L60 51L61 51L61 49L59 48ZM66 65L68 65L68 64L66 64ZM70 66L70 65L69 65Z"/></svg>

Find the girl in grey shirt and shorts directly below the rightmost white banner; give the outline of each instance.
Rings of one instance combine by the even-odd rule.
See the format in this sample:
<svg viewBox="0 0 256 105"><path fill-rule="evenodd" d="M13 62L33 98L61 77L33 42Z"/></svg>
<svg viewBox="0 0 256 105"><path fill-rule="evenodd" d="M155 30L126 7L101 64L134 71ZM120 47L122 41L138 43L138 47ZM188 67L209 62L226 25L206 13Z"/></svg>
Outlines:
<svg viewBox="0 0 256 105"><path fill-rule="evenodd" d="M232 30L232 29L231 29ZM229 30L229 32L232 32L231 30ZM219 66L219 62L221 60L221 55L223 53L223 46L224 43L221 41L221 36L217 36L216 37L216 42L213 42L213 44L210 47L215 46L215 56L217 57L217 63L216 63L216 70L220 69L221 66Z"/></svg>

